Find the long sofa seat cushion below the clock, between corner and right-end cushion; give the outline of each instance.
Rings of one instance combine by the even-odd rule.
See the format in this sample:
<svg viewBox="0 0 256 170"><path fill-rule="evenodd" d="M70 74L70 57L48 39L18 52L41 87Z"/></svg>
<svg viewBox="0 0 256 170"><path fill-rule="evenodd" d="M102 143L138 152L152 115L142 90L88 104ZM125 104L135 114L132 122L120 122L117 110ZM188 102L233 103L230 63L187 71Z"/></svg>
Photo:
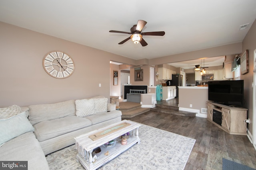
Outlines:
<svg viewBox="0 0 256 170"><path fill-rule="evenodd" d="M91 125L91 121L84 117L67 116L37 123L34 133L38 141L45 141Z"/></svg>

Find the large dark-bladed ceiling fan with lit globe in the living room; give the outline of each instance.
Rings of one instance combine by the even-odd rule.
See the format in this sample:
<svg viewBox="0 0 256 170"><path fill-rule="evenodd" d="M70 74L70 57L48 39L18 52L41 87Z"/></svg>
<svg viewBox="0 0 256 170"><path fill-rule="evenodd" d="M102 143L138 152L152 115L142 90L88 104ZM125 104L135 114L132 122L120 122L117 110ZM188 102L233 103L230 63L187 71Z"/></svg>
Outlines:
<svg viewBox="0 0 256 170"><path fill-rule="evenodd" d="M136 25L133 25L131 27L131 32L124 32L124 31L114 31L110 30L111 33L126 33L126 34L132 34L130 37L126 38L125 40L121 41L118 44L123 44L129 39L131 39L135 44L140 43L143 47L148 45L146 41L142 38L142 35L157 35L157 36L163 36L165 34L164 31L156 31L156 32L144 32L142 33L143 27L146 25L146 21L144 20L138 20L138 23Z"/></svg>

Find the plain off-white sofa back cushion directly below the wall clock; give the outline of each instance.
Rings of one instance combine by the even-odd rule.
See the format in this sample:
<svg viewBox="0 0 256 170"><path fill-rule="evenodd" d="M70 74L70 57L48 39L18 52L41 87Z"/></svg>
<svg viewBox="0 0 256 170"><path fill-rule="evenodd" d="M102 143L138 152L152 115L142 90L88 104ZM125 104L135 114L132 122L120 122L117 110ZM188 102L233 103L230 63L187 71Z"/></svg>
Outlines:
<svg viewBox="0 0 256 170"><path fill-rule="evenodd" d="M29 120L32 125L45 120L58 119L76 115L75 100L68 100L55 104L38 104L28 106Z"/></svg>

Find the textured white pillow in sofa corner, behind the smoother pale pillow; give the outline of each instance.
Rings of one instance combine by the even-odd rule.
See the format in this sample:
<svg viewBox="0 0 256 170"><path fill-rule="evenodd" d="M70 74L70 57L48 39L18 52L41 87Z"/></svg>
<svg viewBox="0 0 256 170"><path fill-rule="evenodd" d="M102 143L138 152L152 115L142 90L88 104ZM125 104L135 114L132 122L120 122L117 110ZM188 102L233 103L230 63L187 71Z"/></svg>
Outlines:
<svg viewBox="0 0 256 170"><path fill-rule="evenodd" d="M21 107L17 105L0 108L0 119L8 119L20 113L22 113Z"/></svg>

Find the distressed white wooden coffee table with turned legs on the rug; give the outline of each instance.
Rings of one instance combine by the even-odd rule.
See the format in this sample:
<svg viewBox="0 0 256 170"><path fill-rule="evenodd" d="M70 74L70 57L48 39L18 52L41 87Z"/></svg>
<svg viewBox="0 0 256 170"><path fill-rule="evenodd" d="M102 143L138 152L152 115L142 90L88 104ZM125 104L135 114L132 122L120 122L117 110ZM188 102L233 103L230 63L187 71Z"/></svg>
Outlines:
<svg viewBox="0 0 256 170"><path fill-rule="evenodd" d="M123 129L120 129L118 131L115 131L113 133L110 133L109 135L106 135L105 137L102 137L96 141L93 141L89 138L90 135L101 132L103 130L109 129L111 127L114 127L116 125L119 125L121 123L130 123L130 126L124 127ZM138 128L140 127L140 124L130 121L130 120L123 120L118 123L114 123L112 125L108 125L106 127L102 127L100 129L91 131L89 133L86 133L84 135L80 135L79 137L76 137L76 149L78 149L78 154L76 155L76 160L79 161L82 166L86 170L96 170L100 166L106 164L110 160L114 159L116 156L124 152L125 150L132 147L135 143L140 143ZM131 132L129 138L127 139L127 145L121 144L121 136L125 133ZM116 141L116 145L114 147L103 147L102 145L107 143L108 141L112 141L114 139L118 138ZM96 160L93 160L92 158L92 151L93 149L100 147L101 154L96 158ZM105 154L105 153L108 153Z"/></svg>

